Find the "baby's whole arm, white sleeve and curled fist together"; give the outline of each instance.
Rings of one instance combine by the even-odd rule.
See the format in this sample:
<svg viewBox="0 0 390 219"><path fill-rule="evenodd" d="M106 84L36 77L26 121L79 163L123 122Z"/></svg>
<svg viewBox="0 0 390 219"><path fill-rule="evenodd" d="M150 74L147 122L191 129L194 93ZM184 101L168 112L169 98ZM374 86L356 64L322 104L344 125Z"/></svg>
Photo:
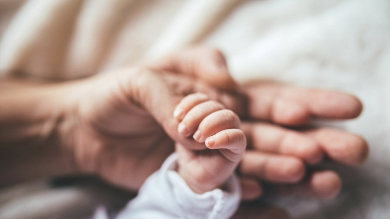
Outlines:
<svg viewBox="0 0 390 219"><path fill-rule="evenodd" d="M229 219L238 208L234 169L246 147L238 116L195 93L181 100L174 117L179 134L204 148L176 144L176 153L148 178L118 219Z"/></svg>

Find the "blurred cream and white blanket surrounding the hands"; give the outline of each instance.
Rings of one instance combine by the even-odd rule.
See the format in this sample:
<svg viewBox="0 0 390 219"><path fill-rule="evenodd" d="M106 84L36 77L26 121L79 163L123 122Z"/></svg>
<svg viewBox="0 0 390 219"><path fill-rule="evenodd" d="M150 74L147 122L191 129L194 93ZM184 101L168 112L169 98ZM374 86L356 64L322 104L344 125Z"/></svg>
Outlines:
<svg viewBox="0 0 390 219"><path fill-rule="evenodd" d="M293 219L390 218L389 0L0 0L0 72L69 80L205 44L241 82L272 79L347 91L363 104L348 122L364 136L361 167L331 201L267 196ZM37 181L0 190L1 219L86 218L132 194L96 179Z"/></svg>

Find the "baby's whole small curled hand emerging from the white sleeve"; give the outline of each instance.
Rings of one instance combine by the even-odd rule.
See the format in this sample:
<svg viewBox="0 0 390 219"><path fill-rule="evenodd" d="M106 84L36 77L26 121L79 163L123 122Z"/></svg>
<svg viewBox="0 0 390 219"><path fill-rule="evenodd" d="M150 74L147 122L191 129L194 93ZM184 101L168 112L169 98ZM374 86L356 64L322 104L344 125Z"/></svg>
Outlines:
<svg viewBox="0 0 390 219"><path fill-rule="evenodd" d="M176 144L177 172L195 192L221 187L233 174L247 145L239 117L205 94L184 97L174 111L179 134L205 143L208 149L192 150Z"/></svg>

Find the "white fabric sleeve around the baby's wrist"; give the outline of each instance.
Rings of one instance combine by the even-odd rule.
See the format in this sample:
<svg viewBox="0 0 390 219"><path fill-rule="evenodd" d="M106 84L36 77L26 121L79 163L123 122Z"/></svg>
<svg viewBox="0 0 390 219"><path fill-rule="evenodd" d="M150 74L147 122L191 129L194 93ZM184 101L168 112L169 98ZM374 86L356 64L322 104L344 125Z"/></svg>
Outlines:
<svg viewBox="0 0 390 219"><path fill-rule="evenodd" d="M241 199L237 176L228 180L225 190L196 194L175 171L176 160L175 153L169 156L117 219L229 219L234 215Z"/></svg>

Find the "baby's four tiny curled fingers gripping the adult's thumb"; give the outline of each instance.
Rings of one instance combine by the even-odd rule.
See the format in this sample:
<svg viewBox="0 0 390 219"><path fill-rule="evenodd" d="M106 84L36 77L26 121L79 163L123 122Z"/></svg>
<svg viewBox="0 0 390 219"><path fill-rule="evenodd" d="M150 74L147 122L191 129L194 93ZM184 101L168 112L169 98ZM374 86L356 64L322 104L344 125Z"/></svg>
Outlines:
<svg viewBox="0 0 390 219"><path fill-rule="evenodd" d="M240 119L232 111L205 94L194 93L184 97L174 111L180 122L177 131L182 136L193 134L195 141L210 149L220 149L229 161L238 162L247 145L240 128Z"/></svg>

